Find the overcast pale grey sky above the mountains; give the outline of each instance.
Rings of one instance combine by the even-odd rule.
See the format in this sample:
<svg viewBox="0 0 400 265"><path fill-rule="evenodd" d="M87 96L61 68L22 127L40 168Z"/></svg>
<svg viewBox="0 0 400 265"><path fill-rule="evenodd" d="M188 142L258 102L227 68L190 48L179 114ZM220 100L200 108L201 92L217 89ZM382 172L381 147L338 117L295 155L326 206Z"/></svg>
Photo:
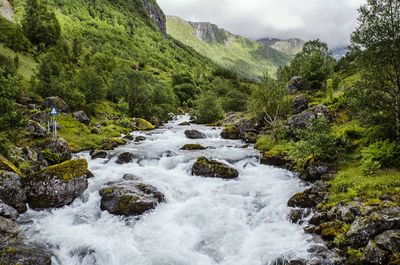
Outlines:
<svg viewBox="0 0 400 265"><path fill-rule="evenodd" d="M346 46L365 0L157 0L166 15L212 22L251 39L320 38Z"/></svg>

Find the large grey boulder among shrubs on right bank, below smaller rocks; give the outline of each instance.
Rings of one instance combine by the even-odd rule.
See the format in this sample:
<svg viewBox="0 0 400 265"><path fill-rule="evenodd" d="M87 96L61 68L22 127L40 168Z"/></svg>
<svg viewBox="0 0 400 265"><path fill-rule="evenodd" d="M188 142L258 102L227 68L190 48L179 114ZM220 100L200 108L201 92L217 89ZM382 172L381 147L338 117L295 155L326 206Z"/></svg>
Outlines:
<svg viewBox="0 0 400 265"><path fill-rule="evenodd" d="M306 129L311 126L312 119L320 116L325 116L328 120L332 119L329 110L323 105L318 105L290 117L286 122L286 127L288 130Z"/></svg>

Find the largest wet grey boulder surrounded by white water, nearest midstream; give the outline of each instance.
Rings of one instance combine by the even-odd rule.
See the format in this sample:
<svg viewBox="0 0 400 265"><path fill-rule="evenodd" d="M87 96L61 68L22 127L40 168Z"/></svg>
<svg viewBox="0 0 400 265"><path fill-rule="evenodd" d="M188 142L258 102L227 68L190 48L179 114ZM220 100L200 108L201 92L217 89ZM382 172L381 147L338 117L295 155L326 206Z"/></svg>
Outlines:
<svg viewBox="0 0 400 265"><path fill-rule="evenodd" d="M111 214L134 216L154 209L164 201L164 195L153 186L141 183L135 176L125 176L125 181L108 183L100 190L101 210Z"/></svg>

